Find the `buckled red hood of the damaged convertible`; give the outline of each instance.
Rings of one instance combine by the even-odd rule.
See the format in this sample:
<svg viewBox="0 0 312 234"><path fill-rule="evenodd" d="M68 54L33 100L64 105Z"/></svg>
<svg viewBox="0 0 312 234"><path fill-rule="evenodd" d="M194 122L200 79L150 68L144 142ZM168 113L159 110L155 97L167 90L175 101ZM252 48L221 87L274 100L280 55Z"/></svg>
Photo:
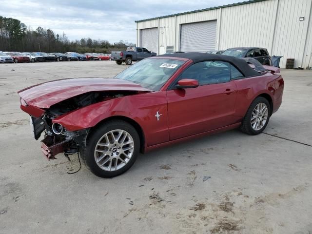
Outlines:
<svg viewBox="0 0 312 234"><path fill-rule="evenodd" d="M30 86L18 92L27 105L39 108L50 106L80 94L97 91L152 92L139 84L114 78L71 78L60 79Z"/></svg>

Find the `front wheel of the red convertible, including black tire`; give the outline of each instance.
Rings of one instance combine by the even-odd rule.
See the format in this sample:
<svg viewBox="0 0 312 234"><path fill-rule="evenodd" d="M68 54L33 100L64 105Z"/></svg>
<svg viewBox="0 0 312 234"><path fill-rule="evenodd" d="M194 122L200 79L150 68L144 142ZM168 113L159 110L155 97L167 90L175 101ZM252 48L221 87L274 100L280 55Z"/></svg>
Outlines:
<svg viewBox="0 0 312 234"><path fill-rule="evenodd" d="M110 140L112 140L112 132L115 137L119 136L118 134L122 132L122 134L119 136L119 141L117 141L117 145L114 144L116 142L109 142L109 146L98 146L98 143L105 144L107 142L106 138L104 137L106 134ZM126 137L124 138L124 136ZM122 140L124 140L124 142L132 143L128 143L122 146ZM130 147L133 148L122 151L122 149ZM93 131L90 136L88 136L86 146L80 150L80 153L83 161L90 168L93 174L99 177L109 178L126 172L136 161L139 154L139 148L140 138L136 129L131 124L123 120L110 120L97 127L97 129L95 129L95 131ZM100 152L95 152L96 149L102 150L102 152L105 153L101 154ZM129 154L128 157L130 158L126 157L125 154ZM100 160L97 162L96 158ZM121 159L126 163L121 162ZM116 161L117 170L114 166L116 165ZM102 163L104 165L100 167L100 164ZM110 163L112 163L111 170L109 169Z"/></svg>

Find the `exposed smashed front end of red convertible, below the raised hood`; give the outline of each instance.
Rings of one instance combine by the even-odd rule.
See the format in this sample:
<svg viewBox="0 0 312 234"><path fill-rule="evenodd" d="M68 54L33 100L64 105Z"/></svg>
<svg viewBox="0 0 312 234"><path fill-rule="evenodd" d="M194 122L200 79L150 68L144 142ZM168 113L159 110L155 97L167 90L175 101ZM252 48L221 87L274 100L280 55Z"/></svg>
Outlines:
<svg viewBox="0 0 312 234"><path fill-rule="evenodd" d="M43 155L50 160L55 159L59 153L64 153L67 157L78 153L79 148L85 146L86 137L90 130L68 131L60 123L54 122L54 119L98 102L137 93L136 91L89 92L62 100L49 108L38 109L36 107L35 111L35 107L27 105L22 98L20 103L22 110L31 115L33 137L38 140L41 134L44 133L44 139L41 140L41 150ZM75 119L73 119L73 122L75 122Z"/></svg>

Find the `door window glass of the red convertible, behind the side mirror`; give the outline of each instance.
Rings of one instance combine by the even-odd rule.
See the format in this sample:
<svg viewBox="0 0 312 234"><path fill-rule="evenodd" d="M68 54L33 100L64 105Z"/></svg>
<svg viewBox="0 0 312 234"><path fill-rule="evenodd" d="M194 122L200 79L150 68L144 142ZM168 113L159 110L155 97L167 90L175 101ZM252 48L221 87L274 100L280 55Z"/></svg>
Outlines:
<svg viewBox="0 0 312 234"><path fill-rule="evenodd" d="M223 61L198 62L187 68L179 79L197 79L199 85L230 81L230 64Z"/></svg>

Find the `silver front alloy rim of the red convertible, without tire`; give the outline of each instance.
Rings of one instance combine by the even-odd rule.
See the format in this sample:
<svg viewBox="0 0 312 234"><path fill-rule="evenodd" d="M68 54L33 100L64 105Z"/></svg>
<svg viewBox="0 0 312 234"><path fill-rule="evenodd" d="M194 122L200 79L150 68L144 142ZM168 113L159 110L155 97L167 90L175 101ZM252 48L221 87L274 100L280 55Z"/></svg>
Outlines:
<svg viewBox="0 0 312 234"><path fill-rule="evenodd" d="M128 132L112 130L98 140L94 150L95 161L104 171L117 171L130 161L134 146L134 140Z"/></svg>

